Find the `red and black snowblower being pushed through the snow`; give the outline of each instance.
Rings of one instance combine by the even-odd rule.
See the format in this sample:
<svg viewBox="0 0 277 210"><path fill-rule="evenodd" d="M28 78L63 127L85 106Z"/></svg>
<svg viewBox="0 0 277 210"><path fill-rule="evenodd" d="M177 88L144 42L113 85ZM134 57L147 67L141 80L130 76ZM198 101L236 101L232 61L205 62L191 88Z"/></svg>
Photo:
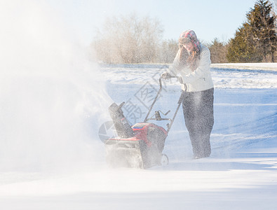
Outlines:
<svg viewBox="0 0 277 210"><path fill-rule="evenodd" d="M160 111L154 113L155 118L148 118L162 90L161 78L159 83L160 89L143 123L136 123L130 126L121 109L124 102L119 106L115 103L109 106L109 113L118 136L107 139L104 142L106 161L109 166L147 169L155 165L168 164L168 157L163 154L163 148L170 127L180 108L181 100L178 102L173 119L161 118ZM167 115L168 113L169 111L163 115ZM163 127L154 123L148 123L149 120L169 120L170 123L168 124L168 129L165 130Z"/></svg>

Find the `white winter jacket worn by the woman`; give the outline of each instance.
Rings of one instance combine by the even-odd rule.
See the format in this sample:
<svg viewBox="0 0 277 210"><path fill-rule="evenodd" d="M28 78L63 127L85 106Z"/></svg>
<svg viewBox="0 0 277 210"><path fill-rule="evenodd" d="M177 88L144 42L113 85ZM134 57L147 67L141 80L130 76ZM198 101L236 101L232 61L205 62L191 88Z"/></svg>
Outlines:
<svg viewBox="0 0 277 210"><path fill-rule="evenodd" d="M181 75L183 79L182 90L187 92L196 92L208 90L213 87L212 76L210 75L210 50L201 44L200 56L198 59L198 67L195 71L191 71L189 66L179 68L180 64L179 49L169 68L169 73L177 76Z"/></svg>

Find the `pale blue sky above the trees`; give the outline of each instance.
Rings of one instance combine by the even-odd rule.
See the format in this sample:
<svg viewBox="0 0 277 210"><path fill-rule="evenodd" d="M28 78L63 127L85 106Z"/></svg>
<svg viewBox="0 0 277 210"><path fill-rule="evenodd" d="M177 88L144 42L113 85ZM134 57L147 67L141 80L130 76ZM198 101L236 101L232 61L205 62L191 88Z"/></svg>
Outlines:
<svg viewBox="0 0 277 210"><path fill-rule="evenodd" d="M186 29L198 38L228 41L246 20L256 0L48 0L70 30L85 44L93 40L96 28L106 18L137 13L157 18L163 25L163 38L177 39Z"/></svg>

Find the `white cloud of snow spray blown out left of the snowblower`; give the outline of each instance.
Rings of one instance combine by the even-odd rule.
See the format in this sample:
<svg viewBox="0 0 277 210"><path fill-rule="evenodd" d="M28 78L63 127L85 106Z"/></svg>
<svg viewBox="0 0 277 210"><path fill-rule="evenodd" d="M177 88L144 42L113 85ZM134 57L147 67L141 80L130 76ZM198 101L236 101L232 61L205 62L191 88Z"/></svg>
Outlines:
<svg viewBox="0 0 277 210"><path fill-rule="evenodd" d="M0 171L104 161L110 102L86 50L41 1L1 1L0 25Z"/></svg>

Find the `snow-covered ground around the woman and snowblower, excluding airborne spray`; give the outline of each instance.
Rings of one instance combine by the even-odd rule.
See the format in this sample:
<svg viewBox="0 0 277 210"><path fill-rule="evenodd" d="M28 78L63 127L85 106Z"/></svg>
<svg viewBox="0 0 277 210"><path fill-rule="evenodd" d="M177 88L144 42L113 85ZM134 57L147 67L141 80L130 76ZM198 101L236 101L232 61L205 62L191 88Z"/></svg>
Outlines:
<svg viewBox="0 0 277 210"><path fill-rule="evenodd" d="M15 158L1 155L1 209L276 209L277 71L252 65L258 70L212 69L215 126L210 158L191 159L191 144L180 110L165 143L169 165L147 170L109 169L105 165L104 145L97 136L100 125L109 117L102 116L98 124L88 117L86 122L93 131L90 141L77 141L81 147L76 148L69 138L67 153L61 148L45 153L51 149L27 142L31 149L23 149L42 149L44 153L42 158L36 151L31 157L37 155L38 160L30 160L25 167L20 161L24 153L16 155L15 150ZM97 101L102 96L103 100L110 97L108 102L128 103L126 117L136 123L144 119L151 96L158 89L158 76L166 68L99 66L107 96L99 94L95 86L91 91ZM180 85L175 80L164 85L157 109L173 113ZM102 109L107 109L108 104L103 103ZM96 112L96 116L100 114ZM55 141L60 146L60 140ZM82 154L90 150L93 155ZM72 153L76 161L72 162L72 157L67 161L64 156ZM3 167L4 163L9 167Z"/></svg>

